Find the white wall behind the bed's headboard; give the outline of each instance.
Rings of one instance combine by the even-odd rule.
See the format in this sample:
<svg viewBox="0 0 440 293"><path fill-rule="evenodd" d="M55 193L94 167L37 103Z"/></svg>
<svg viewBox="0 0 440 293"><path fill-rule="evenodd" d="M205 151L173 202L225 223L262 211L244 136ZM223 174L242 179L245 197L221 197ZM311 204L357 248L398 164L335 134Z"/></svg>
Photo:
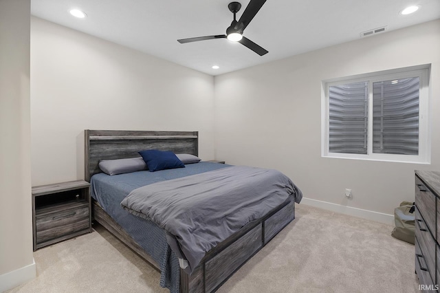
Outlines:
<svg viewBox="0 0 440 293"><path fill-rule="evenodd" d="M84 178L84 129L199 131L214 158L212 76L31 19L32 185Z"/></svg>

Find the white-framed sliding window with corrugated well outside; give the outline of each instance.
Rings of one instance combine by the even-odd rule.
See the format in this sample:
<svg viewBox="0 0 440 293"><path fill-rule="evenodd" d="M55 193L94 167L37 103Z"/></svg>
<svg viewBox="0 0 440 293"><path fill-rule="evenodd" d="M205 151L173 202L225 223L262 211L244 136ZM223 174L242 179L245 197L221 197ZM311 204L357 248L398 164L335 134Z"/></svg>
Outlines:
<svg viewBox="0 0 440 293"><path fill-rule="evenodd" d="M429 163L429 65L322 82L322 155Z"/></svg>

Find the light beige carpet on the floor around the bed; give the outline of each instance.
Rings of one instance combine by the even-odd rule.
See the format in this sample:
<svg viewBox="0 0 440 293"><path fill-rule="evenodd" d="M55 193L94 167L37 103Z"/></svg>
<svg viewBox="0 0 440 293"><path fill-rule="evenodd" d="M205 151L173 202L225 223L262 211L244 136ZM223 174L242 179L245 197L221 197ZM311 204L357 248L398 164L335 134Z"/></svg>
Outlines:
<svg viewBox="0 0 440 293"><path fill-rule="evenodd" d="M36 279L16 292L169 292L159 272L96 226L34 252ZM296 219L217 292L417 292L414 246L393 226L296 205Z"/></svg>

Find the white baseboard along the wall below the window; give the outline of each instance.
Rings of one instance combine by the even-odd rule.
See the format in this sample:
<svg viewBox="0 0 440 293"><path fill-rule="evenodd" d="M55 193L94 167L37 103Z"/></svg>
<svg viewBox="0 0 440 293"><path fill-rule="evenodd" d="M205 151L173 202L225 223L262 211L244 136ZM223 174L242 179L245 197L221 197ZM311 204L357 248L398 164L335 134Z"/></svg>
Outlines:
<svg viewBox="0 0 440 293"><path fill-rule="evenodd" d="M301 204L307 206L314 206L316 208L323 208L325 210L331 210L332 212L341 213L344 215L350 215L354 217L360 217L362 219L369 219L372 221L378 221L380 223L394 225L394 215L388 215L384 213L373 212L373 210L362 210L362 208L352 208L351 206L341 206L340 204L332 204L331 202L322 202L316 199L309 199L303 197Z"/></svg>

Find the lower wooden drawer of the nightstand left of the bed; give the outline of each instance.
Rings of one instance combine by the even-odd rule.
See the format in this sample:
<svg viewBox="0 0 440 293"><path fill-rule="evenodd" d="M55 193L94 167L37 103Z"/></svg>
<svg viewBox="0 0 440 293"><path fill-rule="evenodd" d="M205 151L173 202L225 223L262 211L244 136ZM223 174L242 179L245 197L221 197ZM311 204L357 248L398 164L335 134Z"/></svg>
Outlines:
<svg viewBox="0 0 440 293"><path fill-rule="evenodd" d="M35 215L36 243L89 229L88 202L72 202L39 210Z"/></svg>

